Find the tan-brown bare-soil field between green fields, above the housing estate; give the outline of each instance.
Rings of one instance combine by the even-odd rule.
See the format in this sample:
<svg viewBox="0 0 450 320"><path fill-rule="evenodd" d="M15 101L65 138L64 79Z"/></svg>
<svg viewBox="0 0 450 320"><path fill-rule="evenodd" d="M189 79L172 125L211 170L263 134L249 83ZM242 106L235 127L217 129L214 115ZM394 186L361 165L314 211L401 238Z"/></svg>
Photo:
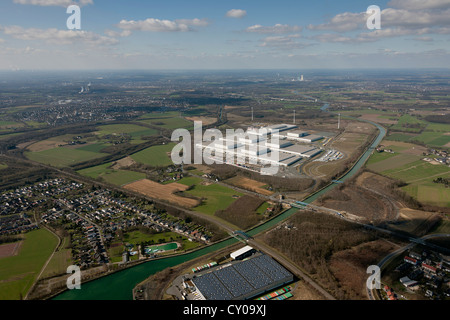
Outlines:
<svg viewBox="0 0 450 320"><path fill-rule="evenodd" d="M180 183L160 184L148 179L139 180L124 186L125 189L141 193L154 199L161 199L182 207L193 208L198 206L199 200L181 197L177 192L186 191L189 186Z"/></svg>

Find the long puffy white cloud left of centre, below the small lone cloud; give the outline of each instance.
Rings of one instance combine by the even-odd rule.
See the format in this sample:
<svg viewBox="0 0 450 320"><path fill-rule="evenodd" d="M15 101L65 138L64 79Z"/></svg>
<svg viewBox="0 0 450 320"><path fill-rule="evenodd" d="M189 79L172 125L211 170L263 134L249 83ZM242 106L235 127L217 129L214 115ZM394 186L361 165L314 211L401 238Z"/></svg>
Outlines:
<svg viewBox="0 0 450 320"><path fill-rule="evenodd" d="M140 21L122 20L117 27L128 31L187 32L193 31L192 27L205 27L208 25L209 22L206 19L180 19L171 21L148 18Z"/></svg>

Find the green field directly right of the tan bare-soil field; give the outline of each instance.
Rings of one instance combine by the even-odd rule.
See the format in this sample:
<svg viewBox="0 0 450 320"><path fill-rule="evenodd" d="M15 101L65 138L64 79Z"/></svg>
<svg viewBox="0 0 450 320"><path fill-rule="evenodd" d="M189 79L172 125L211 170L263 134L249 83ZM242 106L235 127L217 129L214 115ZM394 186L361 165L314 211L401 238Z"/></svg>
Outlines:
<svg viewBox="0 0 450 320"><path fill-rule="evenodd" d="M243 196L244 194L234 191L233 189L218 185L211 184L209 186L195 185L193 189L187 191L198 198L204 198L203 204L194 208L195 211L214 215L217 210L225 210L234 201L233 196Z"/></svg>

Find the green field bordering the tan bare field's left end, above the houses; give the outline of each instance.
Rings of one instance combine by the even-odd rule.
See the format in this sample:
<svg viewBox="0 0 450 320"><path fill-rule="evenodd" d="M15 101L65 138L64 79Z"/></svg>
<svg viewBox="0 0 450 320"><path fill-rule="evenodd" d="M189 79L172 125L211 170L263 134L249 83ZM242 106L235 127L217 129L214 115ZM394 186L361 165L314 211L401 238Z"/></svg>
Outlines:
<svg viewBox="0 0 450 320"><path fill-rule="evenodd" d="M118 186L146 178L144 173L128 170L114 170L109 168L111 165L111 162L105 163L99 166L79 170L78 173L93 179L101 177L106 182Z"/></svg>

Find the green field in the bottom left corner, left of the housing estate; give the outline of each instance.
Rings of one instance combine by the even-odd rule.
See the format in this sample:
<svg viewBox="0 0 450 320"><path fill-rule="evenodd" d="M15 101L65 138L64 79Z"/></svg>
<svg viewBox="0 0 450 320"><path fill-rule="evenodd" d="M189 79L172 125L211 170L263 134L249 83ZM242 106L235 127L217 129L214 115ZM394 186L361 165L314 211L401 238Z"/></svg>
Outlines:
<svg viewBox="0 0 450 320"><path fill-rule="evenodd" d="M57 245L48 230L34 230L25 235L17 256L0 259L0 300L25 297Z"/></svg>

